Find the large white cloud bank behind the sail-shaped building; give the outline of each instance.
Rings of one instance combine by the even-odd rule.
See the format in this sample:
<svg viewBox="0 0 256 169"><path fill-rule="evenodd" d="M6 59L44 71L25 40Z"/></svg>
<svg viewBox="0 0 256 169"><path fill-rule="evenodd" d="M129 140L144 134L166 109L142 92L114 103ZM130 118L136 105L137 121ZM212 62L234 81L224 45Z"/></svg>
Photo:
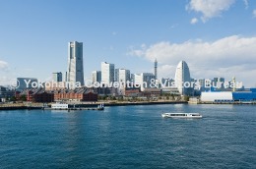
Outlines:
<svg viewBox="0 0 256 169"><path fill-rule="evenodd" d="M158 59L164 64L162 70L171 71L180 60L185 60L193 78L213 78L217 76L231 78L247 84L256 84L256 36L227 36L216 41L188 40L183 43L162 41L149 47L135 49L130 54L145 57L154 62ZM251 73L250 73L251 72ZM164 75L161 73L160 76Z"/></svg>

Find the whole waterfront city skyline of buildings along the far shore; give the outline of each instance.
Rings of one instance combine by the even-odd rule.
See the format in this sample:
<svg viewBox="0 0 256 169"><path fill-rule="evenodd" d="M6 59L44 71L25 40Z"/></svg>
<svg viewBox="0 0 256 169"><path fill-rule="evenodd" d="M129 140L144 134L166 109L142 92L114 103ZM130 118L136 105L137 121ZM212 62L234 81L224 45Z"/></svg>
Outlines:
<svg viewBox="0 0 256 169"><path fill-rule="evenodd" d="M32 78L18 78L15 90L0 86L0 98L26 95L28 101L51 102L58 100L96 101L97 95L125 97L158 97L160 95L200 96L202 101L256 100L254 89L237 88L235 79L227 83L224 78L195 80L185 61L177 65L174 79L158 79L158 61L154 73L132 74L130 70L115 68L112 63L101 62L100 71L92 72L85 82L83 43L68 43L68 67L65 75L52 73L52 82L39 83ZM227 84L227 85L226 85ZM249 96L245 96L249 93ZM4 101L4 100L2 100Z"/></svg>

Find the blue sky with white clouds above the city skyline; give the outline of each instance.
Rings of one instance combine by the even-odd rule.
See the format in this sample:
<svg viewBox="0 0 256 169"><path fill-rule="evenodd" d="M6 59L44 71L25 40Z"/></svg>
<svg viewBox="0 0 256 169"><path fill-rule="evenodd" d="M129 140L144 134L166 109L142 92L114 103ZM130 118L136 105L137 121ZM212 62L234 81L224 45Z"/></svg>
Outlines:
<svg viewBox="0 0 256 169"><path fill-rule="evenodd" d="M49 81L67 70L68 42L84 43L85 79L100 62L174 78L232 77L256 86L255 0L0 0L0 84Z"/></svg>

